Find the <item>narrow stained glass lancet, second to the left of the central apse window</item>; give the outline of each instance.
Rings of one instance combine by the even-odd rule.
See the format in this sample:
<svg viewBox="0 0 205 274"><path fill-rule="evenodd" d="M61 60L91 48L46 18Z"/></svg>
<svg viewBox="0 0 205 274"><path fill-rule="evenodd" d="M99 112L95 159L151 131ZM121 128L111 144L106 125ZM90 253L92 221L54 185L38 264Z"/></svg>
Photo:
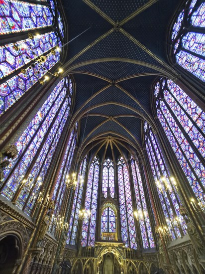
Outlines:
<svg viewBox="0 0 205 274"><path fill-rule="evenodd" d="M81 209L83 186L84 186L84 183L82 184L82 181L84 181L84 178L85 178L87 162L88 162L88 159L86 156L81 163L79 174L78 174L78 183L75 189L72 212L71 212L69 229L68 229L67 244L70 244L70 245L76 244L78 221L79 221L79 210Z"/></svg>

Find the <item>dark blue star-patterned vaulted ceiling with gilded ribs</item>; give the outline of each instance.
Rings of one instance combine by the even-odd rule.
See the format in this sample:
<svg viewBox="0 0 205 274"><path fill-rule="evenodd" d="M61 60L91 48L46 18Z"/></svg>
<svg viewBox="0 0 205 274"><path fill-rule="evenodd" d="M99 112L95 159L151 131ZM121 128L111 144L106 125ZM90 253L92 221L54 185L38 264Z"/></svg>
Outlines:
<svg viewBox="0 0 205 274"><path fill-rule="evenodd" d="M68 46L65 71L76 84L72 119L80 122L79 147L92 142L93 153L100 149L99 138L109 142L108 136L124 155L130 145L142 147L142 122L154 120L151 87L157 77L175 76L167 35L182 2L62 0L68 40L76 37ZM119 154L115 145L113 151Z"/></svg>

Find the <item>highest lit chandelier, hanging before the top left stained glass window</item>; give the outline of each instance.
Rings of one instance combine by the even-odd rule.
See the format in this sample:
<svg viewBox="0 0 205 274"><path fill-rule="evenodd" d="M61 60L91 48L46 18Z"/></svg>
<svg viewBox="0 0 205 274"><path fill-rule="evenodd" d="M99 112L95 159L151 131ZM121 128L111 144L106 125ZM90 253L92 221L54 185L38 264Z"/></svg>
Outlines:
<svg viewBox="0 0 205 274"><path fill-rule="evenodd" d="M33 35L32 33L28 33L28 38L31 39L35 39L36 42L37 40L40 40L42 35L40 34L35 34ZM25 63L30 62L29 65L29 69L35 68L35 76L38 78L39 83L41 85L44 85L44 83L46 81L49 80L49 77L47 75L44 76L44 79L40 79L41 75L40 75L40 71L44 71L50 75L53 75L55 77L60 77L61 79L62 77L62 72L63 70L61 68L59 68L58 71L56 71L55 73L51 73L50 70L48 68L45 67L45 62L47 61L47 56L46 55L41 55L39 56L39 52L35 52L34 49L32 48L32 42L29 43L29 40L27 40L25 43L14 43L13 44L13 48L14 50L16 50L19 53L19 56L21 55L25 55ZM59 53L61 51L59 46L55 46L54 48L52 48L50 50L50 53L52 55L56 55L57 53ZM30 55L33 55L33 58L30 57ZM26 61L27 59L27 61ZM26 69L21 69L21 73L25 74L26 73Z"/></svg>

